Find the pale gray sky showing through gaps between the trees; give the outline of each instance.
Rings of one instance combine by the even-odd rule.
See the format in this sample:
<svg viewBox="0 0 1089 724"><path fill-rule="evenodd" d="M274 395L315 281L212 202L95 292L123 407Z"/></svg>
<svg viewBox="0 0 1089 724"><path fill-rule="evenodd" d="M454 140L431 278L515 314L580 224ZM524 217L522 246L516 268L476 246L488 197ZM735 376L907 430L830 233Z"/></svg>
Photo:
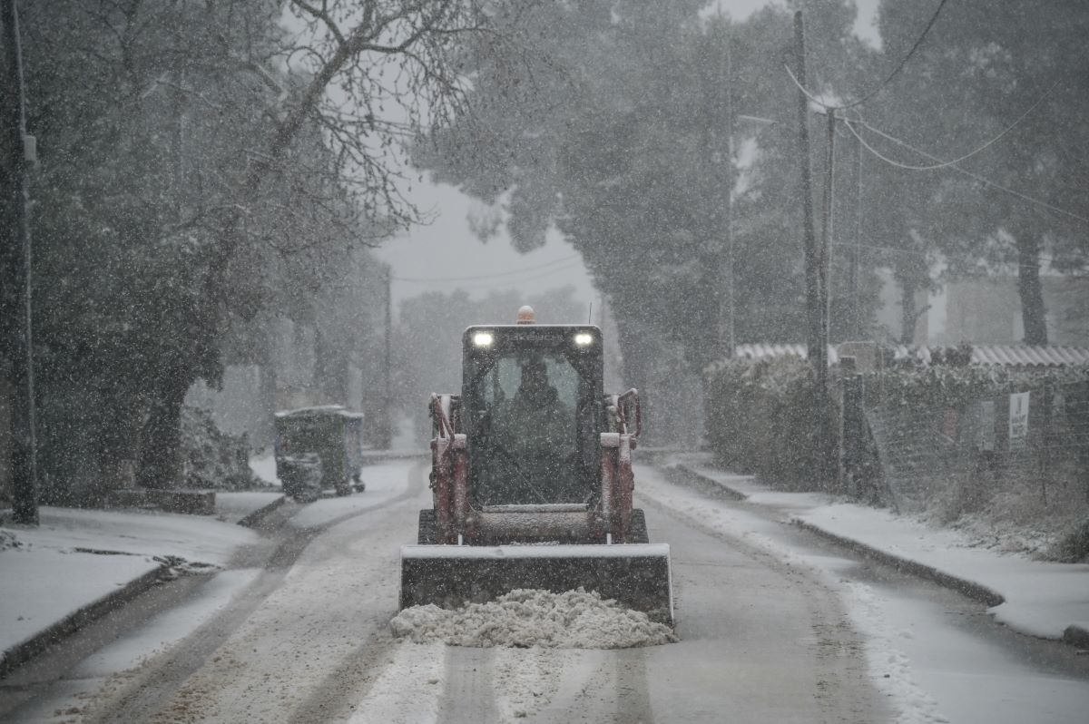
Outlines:
<svg viewBox="0 0 1089 724"><path fill-rule="evenodd" d="M857 0L857 3L860 12L855 32L876 44L873 16L878 0ZM769 0L719 0L719 4L724 13L744 20L770 3ZM709 12L714 12L714 8L715 3L710 3ZM393 266L394 278L400 278L393 283L395 306L430 290L451 292L460 287L478 298L489 291L514 289L534 294L566 284L575 287L575 299L580 306L590 303L598 306L598 294L586 269L579 259L572 259L576 251L559 233L550 234L543 247L518 254L511 248L505 231L487 244L477 238L467 220L474 201L457 188L425 182L407 196L420 209L431 210L435 221L391 240L378 251L380 258ZM493 278L479 279L488 275ZM468 277L476 279L461 279ZM409 279L449 281L404 281Z"/></svg>

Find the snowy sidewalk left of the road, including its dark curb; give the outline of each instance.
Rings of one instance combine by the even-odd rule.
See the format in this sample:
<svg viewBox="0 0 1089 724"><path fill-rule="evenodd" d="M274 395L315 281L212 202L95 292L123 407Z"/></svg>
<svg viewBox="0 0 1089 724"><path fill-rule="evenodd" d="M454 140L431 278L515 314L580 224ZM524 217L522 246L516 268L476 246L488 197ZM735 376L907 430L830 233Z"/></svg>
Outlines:
<svg viewBox="0 0 1089 724"><path fill-rule="evenodd" d="M228 565L259 536L240 525L279 492L216 495L216 515L44 506L40 525L0 520L0 678L162 579Z"/></svg>

